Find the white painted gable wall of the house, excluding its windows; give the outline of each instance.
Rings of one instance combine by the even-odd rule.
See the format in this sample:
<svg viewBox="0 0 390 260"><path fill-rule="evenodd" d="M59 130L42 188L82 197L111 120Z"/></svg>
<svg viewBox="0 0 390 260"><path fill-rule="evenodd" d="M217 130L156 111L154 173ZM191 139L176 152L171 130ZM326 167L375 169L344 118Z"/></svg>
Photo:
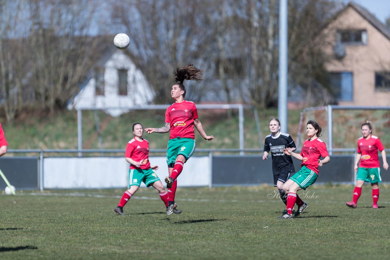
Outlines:
<svg viewBox="0 0 390 260"><path fill-rule="evenodd" d="M128 70L128 95L120 96L118 91L118 69ZM134 62L122 50L113 53L105 64L105 95L96 96L95 79L91 80L76 95L68 109L77 108L109 108L117 107L123 109L109 109L106 113L116 117L127 112L126 108L134 105L146 105L151 103L154 91L149 86L144 74Z"/></svg>

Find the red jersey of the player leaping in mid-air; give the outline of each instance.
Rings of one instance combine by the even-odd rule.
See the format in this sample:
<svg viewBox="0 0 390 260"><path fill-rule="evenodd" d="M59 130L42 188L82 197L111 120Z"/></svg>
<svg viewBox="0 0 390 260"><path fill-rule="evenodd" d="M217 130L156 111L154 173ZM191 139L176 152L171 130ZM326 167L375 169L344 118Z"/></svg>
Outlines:
<svg viewBox="0 0 390 260"><path fill-rule="evenodd" d="M174 139L177 136L195 139L194 120L197 118L198 111L191 101L184 100L181 103L168 106L165 112L165 123L169 123L170 126L169 139Z"/></svg>

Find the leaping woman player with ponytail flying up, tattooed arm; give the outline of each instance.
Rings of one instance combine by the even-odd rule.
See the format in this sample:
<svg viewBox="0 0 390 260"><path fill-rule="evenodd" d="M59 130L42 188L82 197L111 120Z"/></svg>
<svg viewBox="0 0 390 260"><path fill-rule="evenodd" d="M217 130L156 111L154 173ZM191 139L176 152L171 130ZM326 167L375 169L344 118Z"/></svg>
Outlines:
<svg viewBox="0 0 390 260"><path fill-rule="evenodd" d="M182 68L177 68L175 74L176 83L172 86L171 96L175 103L168 106L165 112L165 126L161 128L146 128L148 134L170 132L167 164L169 176L165 177L169 194L169 206L167 216L172 214L177 205L175 194L177 188L177 176L183 170L183 164L191 157L195 150L194 126L205 140L212 140L214 136L208 136L204 131L198 118L195 104L184 100L186 88L184 80L203 80L200 73L202 70L189 64Z"/></svg>

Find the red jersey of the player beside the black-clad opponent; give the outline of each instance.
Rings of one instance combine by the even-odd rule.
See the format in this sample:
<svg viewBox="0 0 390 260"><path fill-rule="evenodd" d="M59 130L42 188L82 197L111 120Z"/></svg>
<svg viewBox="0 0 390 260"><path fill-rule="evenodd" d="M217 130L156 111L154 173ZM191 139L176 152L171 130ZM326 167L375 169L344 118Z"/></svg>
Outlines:
<svg viewBox="0 0 390 260"><path fill-rule="evenodd" d="M326 145L321 139L316 138L313 141L310 139L306 140L303 143L301 149L302 164L305 165L310 170L313 170L318 175L318 159L322 157L329 156L328 150L326 150Z"/></svg>

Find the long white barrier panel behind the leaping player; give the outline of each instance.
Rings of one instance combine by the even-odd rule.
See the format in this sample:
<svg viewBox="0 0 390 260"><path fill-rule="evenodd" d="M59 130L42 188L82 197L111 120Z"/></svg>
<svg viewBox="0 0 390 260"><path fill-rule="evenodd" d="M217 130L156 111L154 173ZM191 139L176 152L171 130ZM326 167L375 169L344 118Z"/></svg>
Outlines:
<svg viewBox="0 0 390 260"><path fill-rule="evenodd" d="M166 157L149 157L161 182L168 176ZM209 157L191 157L178 177L178 187L209 186ZM129 164L124 157L64 157L44 158L44 189L127 188ZM142 184L141 187L145 187Z"/></svg>

